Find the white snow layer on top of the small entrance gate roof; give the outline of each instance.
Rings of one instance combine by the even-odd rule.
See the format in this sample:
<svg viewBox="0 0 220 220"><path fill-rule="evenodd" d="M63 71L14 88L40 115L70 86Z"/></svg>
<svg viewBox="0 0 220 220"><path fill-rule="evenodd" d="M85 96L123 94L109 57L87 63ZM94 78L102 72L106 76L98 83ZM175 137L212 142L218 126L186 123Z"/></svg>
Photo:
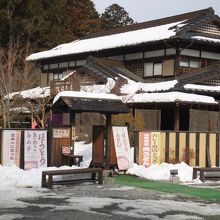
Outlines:
<svg viewBox="0 0 220 220"><path fill-rule="evenodd" d="M114 94L104 94L104 93L91 93L91 92L80 92L80 91L64 91L58 93L54 100L53 104L58 101L60 97L72 97L72 98L80 98L80 99L107 99L107 100L118 100L121 99Z"/></svg>

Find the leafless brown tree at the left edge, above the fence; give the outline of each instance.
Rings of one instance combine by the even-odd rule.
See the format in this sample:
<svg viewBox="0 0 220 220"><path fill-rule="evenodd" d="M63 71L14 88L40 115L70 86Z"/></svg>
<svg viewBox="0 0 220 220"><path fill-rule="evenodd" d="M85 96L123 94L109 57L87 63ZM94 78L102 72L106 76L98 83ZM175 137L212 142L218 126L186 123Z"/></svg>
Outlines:
<svg viewBox="0 0 220 220"><path fill-rule="evenodd" d="M19 41L10 43L8 49L0 49L0 118L4 128L10 128L11 120L17 115L11 111L22 105L21 97L11 94L33 85L33 64L25 63L26 48Z"/></svg>

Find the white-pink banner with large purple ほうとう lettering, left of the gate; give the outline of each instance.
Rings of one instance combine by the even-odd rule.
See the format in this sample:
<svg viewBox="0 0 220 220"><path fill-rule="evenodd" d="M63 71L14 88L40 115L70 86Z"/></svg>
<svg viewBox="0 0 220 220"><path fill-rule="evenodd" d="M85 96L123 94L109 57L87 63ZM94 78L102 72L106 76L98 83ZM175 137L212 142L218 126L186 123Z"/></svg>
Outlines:
<svg viewBox="0 0 220 220"><path fill-rule="evenodd" d="M24 131L24 169L47 167L47 131Z"/></svg>

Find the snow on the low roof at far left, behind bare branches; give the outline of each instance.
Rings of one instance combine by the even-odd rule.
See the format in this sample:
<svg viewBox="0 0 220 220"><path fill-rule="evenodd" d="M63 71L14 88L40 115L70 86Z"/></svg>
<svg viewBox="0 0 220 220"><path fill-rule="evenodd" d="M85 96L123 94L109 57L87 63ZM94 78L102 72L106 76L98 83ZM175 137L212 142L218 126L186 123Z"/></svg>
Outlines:
<svg viewBox="0 0 220 220"><path fill-rule="evenodd" d="M9 94L9 99L13 99L14 96L20 95L24 99L36 99L44 98L50 96L50 87L36 87L33 89L28 89L20 92L14 92Z"/></svg>

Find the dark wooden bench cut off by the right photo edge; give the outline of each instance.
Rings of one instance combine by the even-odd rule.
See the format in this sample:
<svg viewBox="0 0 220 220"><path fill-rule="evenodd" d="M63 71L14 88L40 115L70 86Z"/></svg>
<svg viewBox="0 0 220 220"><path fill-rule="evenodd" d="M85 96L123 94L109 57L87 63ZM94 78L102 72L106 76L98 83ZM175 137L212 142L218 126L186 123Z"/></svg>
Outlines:
<svg viewBox="0 0 220 220"><path fill-rule="evenodd" d="M219 180L220 179L220 167L194 167L193 168L193 179L197 178L197 172L200 173L199 179L202 182L204 182L205 179L209 179L209 180ZM209 173L210 173L210 175L209 175ZM213 175L211 175L211 173Z"/></svg>

